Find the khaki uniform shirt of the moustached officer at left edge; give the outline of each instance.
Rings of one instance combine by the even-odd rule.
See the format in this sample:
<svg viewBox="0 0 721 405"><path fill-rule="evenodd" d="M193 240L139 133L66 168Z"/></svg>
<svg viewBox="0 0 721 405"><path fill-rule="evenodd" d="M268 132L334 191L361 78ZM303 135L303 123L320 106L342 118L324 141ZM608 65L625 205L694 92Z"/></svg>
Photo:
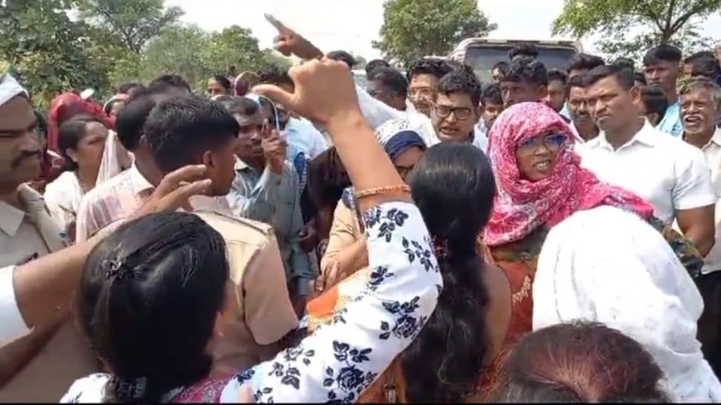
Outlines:
<svg viewBox="0 0 721 405"><path fill-rule="evenodd" d="M27 185L18 192L25 210L0 201L0 267L24 264L65 246L61 227L50 217L43 197ZM3 347L0 358L30 338ZM0 403L58 402L74 380L98 371L99 362L69 320L34 360L0 387Z"/></svg>

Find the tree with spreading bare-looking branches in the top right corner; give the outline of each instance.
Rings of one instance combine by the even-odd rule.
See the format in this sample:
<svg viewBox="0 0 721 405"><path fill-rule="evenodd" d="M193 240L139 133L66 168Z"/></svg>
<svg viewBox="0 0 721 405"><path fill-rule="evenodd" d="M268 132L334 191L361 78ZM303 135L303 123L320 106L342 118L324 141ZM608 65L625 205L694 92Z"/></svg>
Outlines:
<svg viewBox="0 0 721 405"><path fill-rule="evenodd" d="M660 43L695 50L710 45L699 35L698 23L720 9L719 0L565 0L553 33L599 35L603 53L632 58ZM641 33L631 35L631 30Z"/></svg>

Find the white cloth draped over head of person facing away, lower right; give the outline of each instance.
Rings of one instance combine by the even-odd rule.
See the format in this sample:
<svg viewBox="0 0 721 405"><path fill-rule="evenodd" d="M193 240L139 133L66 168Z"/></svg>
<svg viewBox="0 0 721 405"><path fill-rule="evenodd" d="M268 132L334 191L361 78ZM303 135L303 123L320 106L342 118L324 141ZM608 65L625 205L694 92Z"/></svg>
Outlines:
<svg viewBox="0 0 721 405"><path fill-rule="evenodd" d="M554 226L533 300L534 330L574 320L606 324L650 352L673 401L721 401L721 383L696 339L699 290L668 242L637 215L601 206Z"/></svg>

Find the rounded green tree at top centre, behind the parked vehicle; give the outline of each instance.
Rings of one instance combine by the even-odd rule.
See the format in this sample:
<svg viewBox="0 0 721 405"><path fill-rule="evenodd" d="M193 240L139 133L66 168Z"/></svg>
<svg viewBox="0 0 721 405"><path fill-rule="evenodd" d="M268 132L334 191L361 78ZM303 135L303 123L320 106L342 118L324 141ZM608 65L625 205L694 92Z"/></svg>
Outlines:
<svg viewBox="0 0 721 405"><path fill-rule="evenodd" d="M445 55L466 37L495 30L475 0L388 0L380 40L384 58L408 65L426 55Z"/></svg>

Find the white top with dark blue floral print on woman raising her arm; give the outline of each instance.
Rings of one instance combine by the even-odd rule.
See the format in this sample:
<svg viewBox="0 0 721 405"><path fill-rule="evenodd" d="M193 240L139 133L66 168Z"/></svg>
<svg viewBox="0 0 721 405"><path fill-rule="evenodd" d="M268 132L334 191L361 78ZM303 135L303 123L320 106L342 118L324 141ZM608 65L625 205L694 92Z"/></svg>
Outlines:
<svg viewBox="0 0 721 405"><path fill-rule="evenodd" d="M415 205L399 202L363 218L373 269L363 291L297 347L231 378L221 402L239 402L240 387L249 384L254 402L350 403L415 339L442 288L423 218ZM102 402L109 378L77 380L61 402Z"/></svg>

